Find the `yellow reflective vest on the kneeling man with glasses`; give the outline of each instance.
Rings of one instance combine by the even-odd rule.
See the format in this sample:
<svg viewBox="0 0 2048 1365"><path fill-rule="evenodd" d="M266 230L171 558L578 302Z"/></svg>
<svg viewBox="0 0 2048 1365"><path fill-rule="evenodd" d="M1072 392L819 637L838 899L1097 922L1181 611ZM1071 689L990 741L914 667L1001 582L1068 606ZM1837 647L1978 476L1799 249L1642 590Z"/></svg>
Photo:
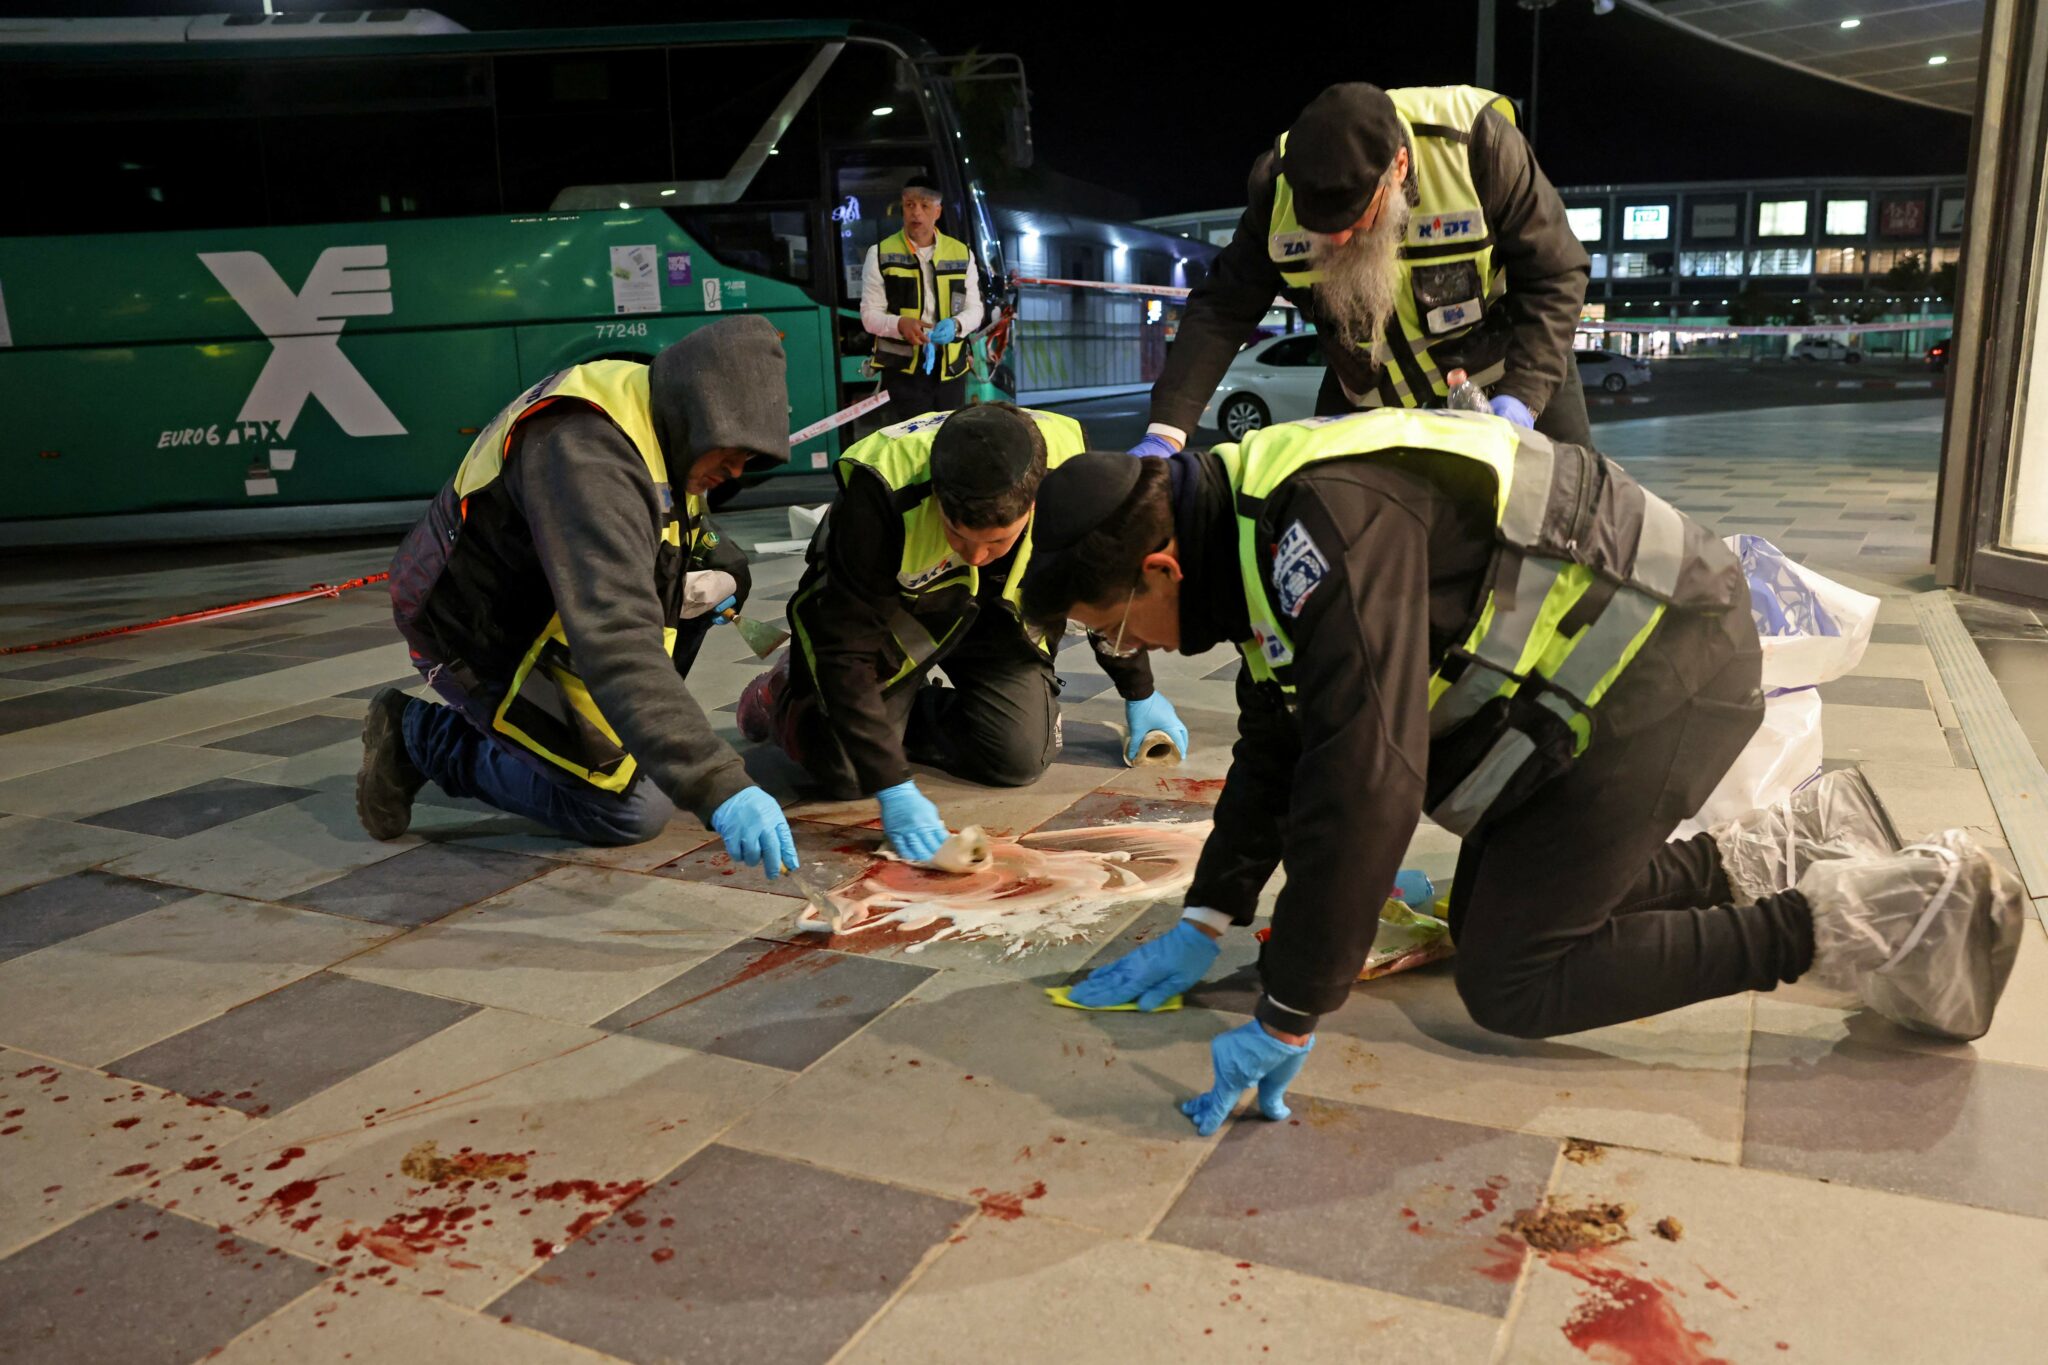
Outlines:
<svg viewBox="0 0 2048 1365"><path fill-rule="evenodd" d="M1483 467L1501 546L1477 624L1430 677L1432 739L1450 735L1495 698L1520 698L1569 729L1573 753L1581 753L1591 739L1591 710L1649 641L1665 606L1731 600L1724 546L1595 450L1462 411L1382 407L1270 426L1237 446L1219 446L1217 456L1237 493L1239 569L1253 632L1239 649L1251 679L1276 686L1288 706L1294 645L1260 563L1260 512L1282 481L1309 465L1395 450ZM1468 833L1536 749L1538 737L1526 724L1509 724L1430 817Z"/></svg>

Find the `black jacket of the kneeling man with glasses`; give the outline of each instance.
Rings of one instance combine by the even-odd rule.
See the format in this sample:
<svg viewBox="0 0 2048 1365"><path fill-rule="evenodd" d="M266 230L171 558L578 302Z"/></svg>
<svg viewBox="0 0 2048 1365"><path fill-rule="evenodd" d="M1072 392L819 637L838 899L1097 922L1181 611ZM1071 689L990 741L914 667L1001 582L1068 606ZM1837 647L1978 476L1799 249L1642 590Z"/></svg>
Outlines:
<svg viewBox="0 0 2048 1365"><path fill-rule="evenodd" d="M1176 497L1182 542L1182 651L1251 634L1223 467L1186 454ZM1286 479L1260 514L1257 544L1303 530L1329 571L1292 618L1296 708L1237 681L1237 745L1217 827L1188 905L1251 923L1260 890L1286 862L1272 937L1260 956L1260 1019L1309 1031L1343 1003L1380 905L1423 808L1430 778L1430 675L1473 628L1493 563L1483 489L1397 460L1331 460ZM1272 593L1272 551L1264 555ZM1733 618L1733 614L1731 614ZM1747 618L1741 622L1747 626ZM1599 704L1593 743L1671 714L1733 657L1720 616L1667 614L1622 684ZM1440 755L1438 755L1440 757Z"/></svg>

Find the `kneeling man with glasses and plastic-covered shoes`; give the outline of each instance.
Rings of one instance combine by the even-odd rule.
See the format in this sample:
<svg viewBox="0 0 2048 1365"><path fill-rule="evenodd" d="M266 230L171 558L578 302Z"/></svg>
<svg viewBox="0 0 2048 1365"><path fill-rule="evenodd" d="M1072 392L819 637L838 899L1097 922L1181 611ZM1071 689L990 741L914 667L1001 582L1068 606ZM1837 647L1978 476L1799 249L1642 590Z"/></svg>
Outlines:
<svg viewBox="0 0 2048 1365"><path fill-rule="evenodd" d="M1245 657L1182 923L1073 988L1186 990L1286 864L1255 1019L1184 1105L1200 1132L1249 1087L1286 1115L1423 810L1464 839L1450 929L1483 1027L1548 1038L1808 974L1931 1033L1991 1025L2019 888L1958 831L1901 851L1860 774L1667 843L1757 729L1761 655L1735 555L1606 456L1382 409L1075 456L1036 532L1032 618Z"/></svg>

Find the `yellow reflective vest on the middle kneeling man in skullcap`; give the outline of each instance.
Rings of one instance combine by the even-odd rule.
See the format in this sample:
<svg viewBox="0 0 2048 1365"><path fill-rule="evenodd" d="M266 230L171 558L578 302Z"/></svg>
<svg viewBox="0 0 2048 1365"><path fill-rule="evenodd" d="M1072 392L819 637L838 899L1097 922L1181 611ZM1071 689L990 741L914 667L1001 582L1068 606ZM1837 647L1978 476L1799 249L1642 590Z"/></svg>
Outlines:
<svg viewBox="0 0 2048 1365"><path fill-rule="evenodd" d="M1061 413L1020 409L1038 424L1044 436L1047 471L1059 469L1067 458L1085 448L1081 424ZM889 610L889 634L895 643L895 667L883 679L883 690L891 690L905 679L918 677L936 663L938 655L952 645L977 614L975 593L981 587L981 571L963 565L946 542L946 524L938 512L938 497L932 493L932 440L940 424L950 413L926 413L887 426L866 436L840 456L834 473L844 487L854 469L874 473L891 491L897 514L903 518L903 559L897 567L897 600ZM829 514L825 518L831 522ZM829 530L825 534L831 534ZM1024 626L1024 569L1030 565L1030 526L1018 538L1016 563L1004 581L1004 606L1018 618L1032 645L1051 657L1053 641ZM821 583L821 579L819 579ZM809 602L817 596L819 583L799 591L788 604L791 632L817 677L817 657L811 649L811 634L803 624Z"/></svg>

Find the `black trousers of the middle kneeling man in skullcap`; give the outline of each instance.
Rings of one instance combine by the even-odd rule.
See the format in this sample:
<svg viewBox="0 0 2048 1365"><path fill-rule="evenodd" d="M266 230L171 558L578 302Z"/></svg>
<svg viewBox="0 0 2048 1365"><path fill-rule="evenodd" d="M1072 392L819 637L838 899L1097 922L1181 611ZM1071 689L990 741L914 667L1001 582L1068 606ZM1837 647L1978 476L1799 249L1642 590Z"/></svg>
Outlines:
<svg viewBox="0 0 2048 1365"><path fill-rule="evenodd" d="M1008 612L985 610L938 667L950 688L915 681L883 698L891 726L901 729L903 755L983 786L1030 786L1044 776L1055 753L1059 677ZM791 679L793 757L829 800L870 796L817 696L803 696L809 679L799 681L795 669Z"/></svg>

